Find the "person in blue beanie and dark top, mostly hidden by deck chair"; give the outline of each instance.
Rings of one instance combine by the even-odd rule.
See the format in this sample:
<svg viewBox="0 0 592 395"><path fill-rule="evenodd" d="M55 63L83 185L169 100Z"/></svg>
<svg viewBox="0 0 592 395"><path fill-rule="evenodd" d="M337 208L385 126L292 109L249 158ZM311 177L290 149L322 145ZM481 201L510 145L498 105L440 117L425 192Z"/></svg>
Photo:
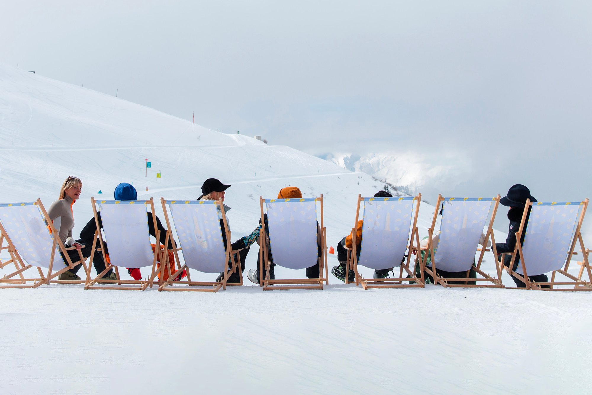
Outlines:
<svg viewBox="0 0 592 395"><path fill-rule="evenodd" d="M115 192L113 193L115 200L123 200L123 201L130 201L130 200L137 200L138 199L138 192L136 191L136 188L134 188L133 185L128 184L128 183L120 183L115 187ZM98 222L99 222L99 226L102 228L103 224L101 221L101 213L98 212L97 213L97 218L98 218ZM148 231L150 233L150 235L152 235L153 237L156 237L156 230L160 231L160 236L159 236L159 241L161 244L165 244L166 243L166 229L165 227L162 226L162 223L160 222L160 219L156 216L156 224L154 223L153 219L152 219L152 213L151 212L147 212L147 218L148 218ZM81 234L80 234L80 238L82 240L85 241L86 244L88 245L92 245L93 239L95 238L95 232L96 232L96 222L95 222L95 218L91 218L90 221L88 221L88 223L86 224L86 226L83 228ZM97 241L98 243L98 241ZM167 243L168 249L172 250L173 249L173 244L171 243L171 240L168 241ZM108 249L108 247L107 247ZM101 255L101 254L98 254ZM101 257L102 260L102 257ZM134 279L134 280L141 280L141 272L139 268L134 268L134 269L127 269L127 272L130 274L130 276ZM178 279L184 278L186 275L186 272L181 273L181 275L179 275ZM115 278L115 273L113 273L113 277L112 279L116 279Z"/></svg>

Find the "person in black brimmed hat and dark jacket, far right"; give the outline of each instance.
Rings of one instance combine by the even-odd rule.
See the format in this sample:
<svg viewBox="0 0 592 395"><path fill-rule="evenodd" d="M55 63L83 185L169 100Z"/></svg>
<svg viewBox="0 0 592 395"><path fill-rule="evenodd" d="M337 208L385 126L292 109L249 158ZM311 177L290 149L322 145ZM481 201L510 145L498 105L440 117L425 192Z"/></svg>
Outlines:
<svg viewBox="0 0 592 395"><path fill-rule="evenodd" d="M526 200L529 199L531 202L536 202L536 199L530 195L530 190L523 186L522 184L516 184L510 187L506 196L500 199L500 203L504 206L510 208L508 211L508 219L510 220L509 225L509 232L508 237L506 239L506 243L496 243L496 249L498 253L498 259L500 259L501 253L513 253L514 249L516 248L516 233L520 228L520 222L522 222L522 215L524 214L524 208L526 205ZM528 217L530 216L530 208L526 212L526 219L525 224L528 222ZM520 237L520 243L524 241L524 234ZM506 255L504 257L504 266L510 267L511 256ZM514 267L512 270L516 270L518 267L518 263L520 261L520 257L516 254L516 259L514 260ZM526 288L526 284L520 279L517 279L514 276L511 278L516 283L518 288ZM536 276L528 276L530 281L535 282L547 282L548 278L546 275L536 275ZM542 285L542 288L549 288L548 285Z"/></svg>

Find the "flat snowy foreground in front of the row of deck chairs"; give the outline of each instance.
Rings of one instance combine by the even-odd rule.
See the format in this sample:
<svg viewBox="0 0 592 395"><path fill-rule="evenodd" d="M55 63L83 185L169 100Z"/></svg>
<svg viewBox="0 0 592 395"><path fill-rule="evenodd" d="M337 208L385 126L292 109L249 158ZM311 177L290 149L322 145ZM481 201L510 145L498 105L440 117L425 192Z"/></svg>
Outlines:
<svg viewBox="0 0 592 395"><path fill-rule="evenodd" d="M2 292L0 393L590 393L590 296Z"/></svg>

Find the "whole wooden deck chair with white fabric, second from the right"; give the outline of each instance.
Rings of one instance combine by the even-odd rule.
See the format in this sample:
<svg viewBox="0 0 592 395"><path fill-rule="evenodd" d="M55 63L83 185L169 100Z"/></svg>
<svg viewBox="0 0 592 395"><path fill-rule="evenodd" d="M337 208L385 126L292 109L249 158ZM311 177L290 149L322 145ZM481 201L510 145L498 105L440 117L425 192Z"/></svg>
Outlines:
<svg viewBox="0 0 592 395"><path fill-rule="evenodd" d="M436 219L442 203L444 206L440 220L440 237L437 245L434 246L432 244L433 229L436 226ZM426 253L430 254L432 262L430 266L426 266L427 259L423 262L423 269L432 276L435 285L504 288L501 283L501 269L498 265L496 265L496 277L481 270L483 256L485 252L490 250L485 247L479 248L482 231L487 227L485 240L491 240L491 249L497 261L493 221L496 218L499 203L500 195L496 198L443 198L442 195L438 195L432 227L428 230L428 246L427 249L424 249ZM481 253L476 265L473 266L477 251L481 251ZM446 272L466 272L466 276L442 278L436 274L436 269ZM477 278L469 278L471 270L477 273ZM452 281L462 283L451 284ZM468 283L473 281L475 284Z"/></svg>

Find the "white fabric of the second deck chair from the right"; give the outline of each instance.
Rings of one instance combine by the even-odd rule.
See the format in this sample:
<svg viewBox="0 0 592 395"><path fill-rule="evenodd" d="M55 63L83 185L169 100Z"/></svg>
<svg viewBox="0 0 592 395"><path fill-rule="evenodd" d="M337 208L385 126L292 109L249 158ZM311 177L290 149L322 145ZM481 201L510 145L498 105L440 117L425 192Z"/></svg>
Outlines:
<svg viewBox="0 0 592 395"><path fill-rule="evenodd" d="M491 203L491 198L444 198L440 238L434 251L436 269L471 269L481 234L489 226Z"/></svg>

